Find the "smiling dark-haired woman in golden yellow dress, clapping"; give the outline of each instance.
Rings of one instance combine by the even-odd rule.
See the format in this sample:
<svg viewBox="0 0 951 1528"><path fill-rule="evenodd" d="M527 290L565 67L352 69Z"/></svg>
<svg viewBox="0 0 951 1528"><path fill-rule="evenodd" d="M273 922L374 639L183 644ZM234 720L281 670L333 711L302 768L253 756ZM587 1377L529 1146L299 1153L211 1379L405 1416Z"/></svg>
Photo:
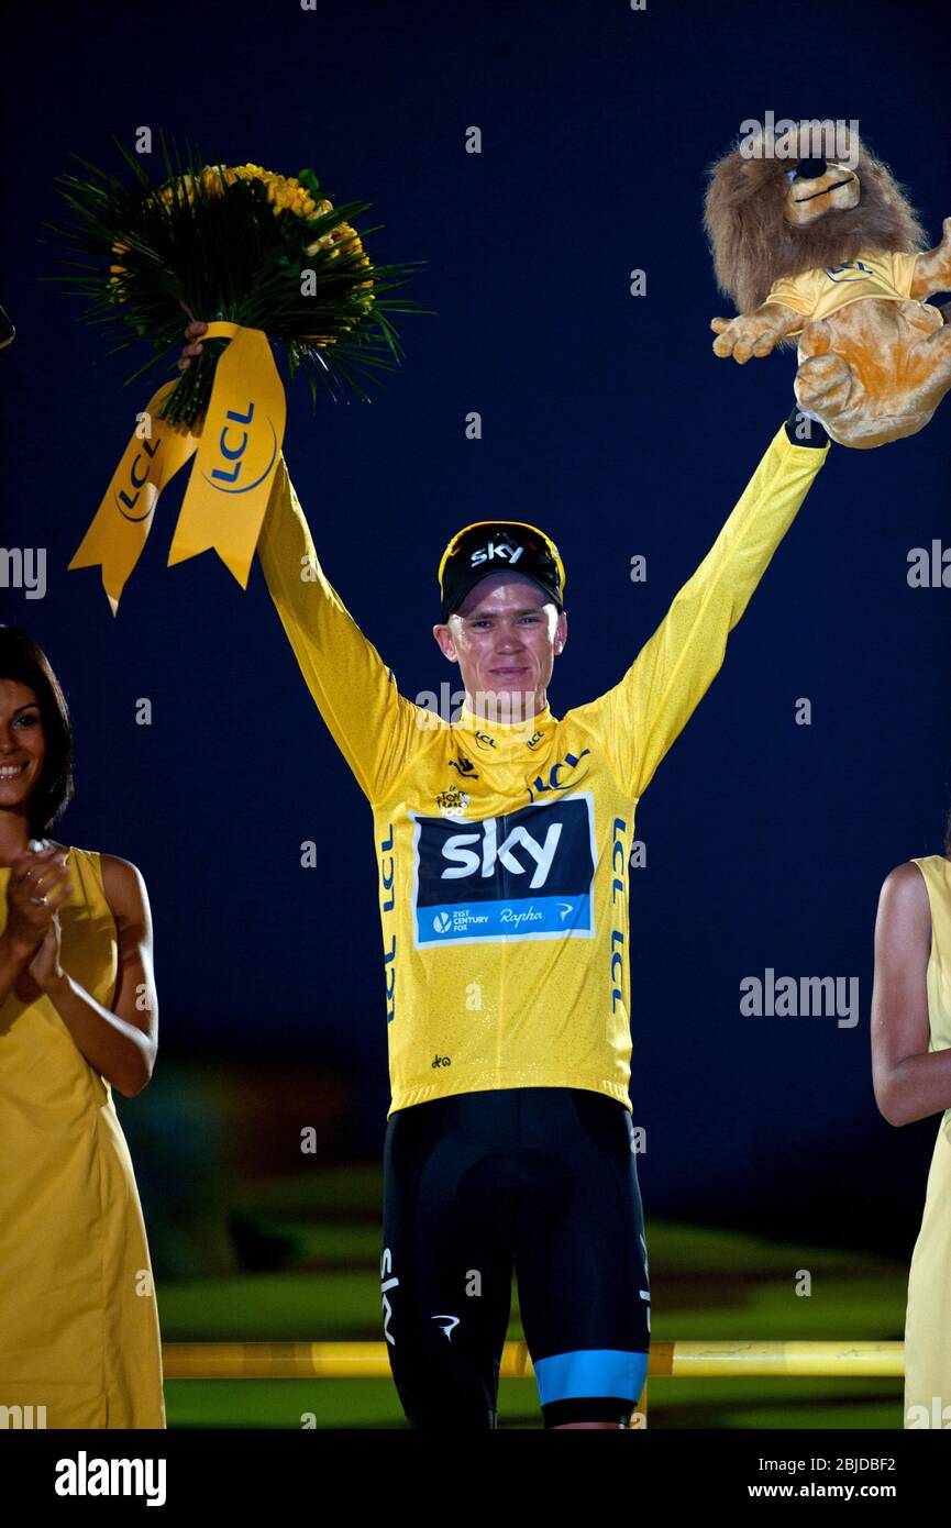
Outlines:
<svg viewBox="0 0 951 1528"><path fill-rule="evenodd" d="M44 837L72 732L43 651L0 626L0 1427L164 1427L148 1244L112 1088L151 1076L135 865Z"/></svg>

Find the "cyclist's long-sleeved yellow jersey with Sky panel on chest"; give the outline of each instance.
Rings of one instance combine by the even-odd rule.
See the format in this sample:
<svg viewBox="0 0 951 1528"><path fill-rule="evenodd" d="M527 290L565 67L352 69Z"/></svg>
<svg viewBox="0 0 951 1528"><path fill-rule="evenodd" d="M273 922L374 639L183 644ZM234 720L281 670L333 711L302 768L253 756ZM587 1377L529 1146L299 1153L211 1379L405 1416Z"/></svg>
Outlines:
<svg viewBox="0 0 951 1528"><path fill-rule="evenodd" d="M558 720L399 694L316 561L281 458L258 542L307 688L373 808L391 1103L587 1088L628 1109L635 811L829 452L777 431L627 674ZM387 1117L388 1117L387 1115Z"/></svg>

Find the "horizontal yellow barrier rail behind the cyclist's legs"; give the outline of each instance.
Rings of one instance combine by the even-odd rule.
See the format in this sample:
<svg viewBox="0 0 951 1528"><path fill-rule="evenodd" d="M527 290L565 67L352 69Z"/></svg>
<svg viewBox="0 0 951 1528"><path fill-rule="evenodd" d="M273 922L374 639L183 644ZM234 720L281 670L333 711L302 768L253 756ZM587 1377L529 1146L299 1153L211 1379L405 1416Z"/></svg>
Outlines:
<svg viewBox="0 0 951 1528"><path fill-rule="evenodd" d="M171 1342L167 1380L381 1380L390 1377L382 1342ZM506 1342L501 1378L534 1374L527 1346ZM648 1380L677 1377L810 1375L897 1380L901 1342L656 1342Z"/></svg>

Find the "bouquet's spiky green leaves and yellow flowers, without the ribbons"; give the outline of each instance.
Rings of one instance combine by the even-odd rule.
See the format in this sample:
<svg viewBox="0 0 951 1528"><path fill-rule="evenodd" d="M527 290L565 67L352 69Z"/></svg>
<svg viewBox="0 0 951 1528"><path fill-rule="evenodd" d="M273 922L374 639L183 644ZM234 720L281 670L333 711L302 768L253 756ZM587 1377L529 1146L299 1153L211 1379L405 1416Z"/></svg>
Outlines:
<svg viewBox="0 0 951 1528"><path fill-rule="evenodd" d="M86 177L54 182L72 217L46 226L86 257L67 261L81 274L49 280L87 298L89 322L118 327L110 354L139 339L157 351L127 382L162 358L177 359L187 312L263 329L284 348L290 376L304 368L315 403L318 379L333 397L352 388L367 399L364 380L379 382L399 364L390 315L431 310L384 296L420 261L370 261L350 223L368 202L335 208L312 170L294 179L260 165L203 165L191 148L182 162L165 139L165 182L154 186L141 157L115 142L135 188L73 154ZM208 408L228 341L202 344L162 410L173 423L193 425Z"/></svg>

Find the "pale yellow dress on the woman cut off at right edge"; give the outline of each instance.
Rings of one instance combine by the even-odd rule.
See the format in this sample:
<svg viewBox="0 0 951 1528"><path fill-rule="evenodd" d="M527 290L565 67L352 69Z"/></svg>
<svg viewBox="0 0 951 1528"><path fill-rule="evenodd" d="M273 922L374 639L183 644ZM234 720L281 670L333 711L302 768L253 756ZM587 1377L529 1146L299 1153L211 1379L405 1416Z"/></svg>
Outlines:
<svg viewBox="0 0 951 1528"><path fill-rule="evenodd" d="M928 1050L939 1051L951 1047L951 860L928 854L913 863L931 903ZM937 1131L908 1274L905 1427L951 1427L951 1109Z"/></svg>

